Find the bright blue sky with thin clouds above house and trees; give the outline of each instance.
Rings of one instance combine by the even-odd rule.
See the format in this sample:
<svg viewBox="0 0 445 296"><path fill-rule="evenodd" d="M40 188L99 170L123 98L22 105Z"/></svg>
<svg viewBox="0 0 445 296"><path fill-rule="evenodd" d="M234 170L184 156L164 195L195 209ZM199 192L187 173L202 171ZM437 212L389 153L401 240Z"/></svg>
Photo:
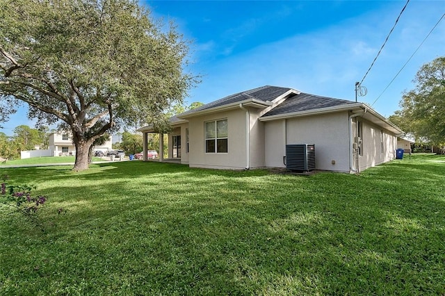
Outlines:
<svg viewBox="0 0 445 296"><path fill-rule="evenodd" d="M362 81L406 1L140 3L154 19L174 22L184 39L191 40L191 65L186 70L201 75L202 83L189 92L190 104L262 85L354 101L355 82ZM412 80L421 65L445 56L442 19L407 63L444 13L442 0L407 4L362 83L368 92L359 101L385 117L399 109L402 93L414 88ZM0 132L12 134L19 124L33 126L23 110Z"/></svg>

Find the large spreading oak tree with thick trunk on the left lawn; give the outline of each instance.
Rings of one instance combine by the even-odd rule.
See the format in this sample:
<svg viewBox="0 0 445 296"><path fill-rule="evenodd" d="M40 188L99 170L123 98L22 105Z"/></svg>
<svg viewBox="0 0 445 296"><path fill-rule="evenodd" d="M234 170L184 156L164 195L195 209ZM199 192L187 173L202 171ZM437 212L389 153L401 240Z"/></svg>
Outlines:
<svg viewBox="0 0 445 296"><path fill-rule="evenodd" d="M132 0L0 0L1 116L24 102L39 123L61 122L74 170L122 124L165 126L164 110L195 83L188 42Z"/></svg>

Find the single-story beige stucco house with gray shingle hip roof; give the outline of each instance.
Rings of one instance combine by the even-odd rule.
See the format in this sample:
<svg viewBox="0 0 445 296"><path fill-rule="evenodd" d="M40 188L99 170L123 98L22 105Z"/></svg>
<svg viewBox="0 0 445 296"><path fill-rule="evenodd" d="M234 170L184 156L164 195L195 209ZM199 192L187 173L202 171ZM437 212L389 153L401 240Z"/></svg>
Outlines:
<svg viewBox="0 0 445 296"><path fill-rule="evenodd" d="M284 168L286 145L314 144L316 170L359 172L393 160L403 133L366 104L270 85L181 113L171 124L168 158L234 170ZM138 131L146 151L147 134L156 131Z"/></svg>

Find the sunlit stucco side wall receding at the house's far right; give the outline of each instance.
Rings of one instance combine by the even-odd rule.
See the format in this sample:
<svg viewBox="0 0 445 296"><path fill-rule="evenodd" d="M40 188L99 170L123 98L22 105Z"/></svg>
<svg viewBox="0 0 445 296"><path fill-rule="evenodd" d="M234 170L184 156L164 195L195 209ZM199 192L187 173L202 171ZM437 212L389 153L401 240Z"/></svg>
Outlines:
<svg viewBox="0 0 445 296"><path fill-rule="evenodd" d="M366 170L369 167L380 165L396 158L397 137L394 133L382 130L380 126L376 126L371 122L362 120L363 137L362 137L362 156L359 156L359 170ZM381 149L381 135L383 131L383 151Z"/></svg>

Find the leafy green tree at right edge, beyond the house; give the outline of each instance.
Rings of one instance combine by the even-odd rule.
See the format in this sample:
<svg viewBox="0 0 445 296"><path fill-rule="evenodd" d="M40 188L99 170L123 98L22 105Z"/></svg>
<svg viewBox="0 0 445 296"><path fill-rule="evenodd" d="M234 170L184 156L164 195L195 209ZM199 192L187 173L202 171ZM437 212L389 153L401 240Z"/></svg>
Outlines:
<svg viewBox="0 0 445 296"><path fill-rule="evenodd" d="M445 57L423 65L413 81L414 90L403 94L402 110L391 121L433 144L445 143ZM399 122L397 122L399 121Z"/></svg>

